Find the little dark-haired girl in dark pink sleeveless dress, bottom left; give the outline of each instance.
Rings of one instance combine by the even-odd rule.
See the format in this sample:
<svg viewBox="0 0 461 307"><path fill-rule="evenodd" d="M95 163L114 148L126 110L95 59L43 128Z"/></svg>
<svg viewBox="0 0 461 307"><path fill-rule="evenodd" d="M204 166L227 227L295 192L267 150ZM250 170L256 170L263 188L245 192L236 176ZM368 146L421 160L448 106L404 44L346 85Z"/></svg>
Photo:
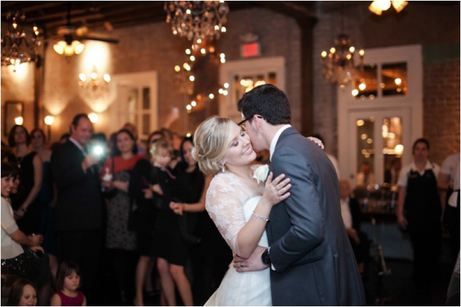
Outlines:
<svg viewBox="0 0 461 307"><path fill-rule="evenodd" d="M50 306L87 306L87 298L77 289L80 282L80 268L75 262L64 261L58 269L56 292Z"/></svg>

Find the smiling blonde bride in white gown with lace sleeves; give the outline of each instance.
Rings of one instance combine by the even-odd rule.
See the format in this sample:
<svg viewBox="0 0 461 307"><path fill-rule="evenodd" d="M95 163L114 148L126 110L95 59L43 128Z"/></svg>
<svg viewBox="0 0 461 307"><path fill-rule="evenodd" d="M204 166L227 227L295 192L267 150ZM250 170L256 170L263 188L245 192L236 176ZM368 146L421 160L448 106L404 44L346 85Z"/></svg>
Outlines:
<svg viewBox="0 0 461 307"><path fill-rule="evenodd" d="M231 119L210 117L198 126L195 143L192 155L200 170L214 175L205 208L234 255L246 258L256 246L267 248L265 225L272 206L289 197L290 179L281 174L272 180L270 173L258 184L249 136ZM269 273L237 273L231 266L205 306L272 306Z"/></svg>

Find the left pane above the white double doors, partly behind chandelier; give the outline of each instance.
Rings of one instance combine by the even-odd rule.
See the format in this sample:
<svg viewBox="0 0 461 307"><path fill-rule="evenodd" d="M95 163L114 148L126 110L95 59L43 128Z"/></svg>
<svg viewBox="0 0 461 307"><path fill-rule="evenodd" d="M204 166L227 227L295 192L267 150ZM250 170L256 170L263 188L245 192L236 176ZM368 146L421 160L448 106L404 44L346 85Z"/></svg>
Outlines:
<svg viewBox="0 0 461 307"><path fill-rule="evenodd" d="M376 65L369 64L359 72L357 79L353 82L352 95L358 99L374 99L378 96L378 69Z"/></svg>

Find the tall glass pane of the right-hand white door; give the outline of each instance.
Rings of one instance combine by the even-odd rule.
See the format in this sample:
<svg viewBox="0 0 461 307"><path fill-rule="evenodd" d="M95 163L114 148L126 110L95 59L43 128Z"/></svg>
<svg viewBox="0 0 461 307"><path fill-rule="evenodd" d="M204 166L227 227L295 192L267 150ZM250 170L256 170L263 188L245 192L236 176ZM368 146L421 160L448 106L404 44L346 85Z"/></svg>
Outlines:
<svg viewBox="0 0 461 307"><path fill-rule="evenodd" d="M395 185L402 163L402 119L390 117L383 119L383 155L384 155L384 182Z"/></svg>

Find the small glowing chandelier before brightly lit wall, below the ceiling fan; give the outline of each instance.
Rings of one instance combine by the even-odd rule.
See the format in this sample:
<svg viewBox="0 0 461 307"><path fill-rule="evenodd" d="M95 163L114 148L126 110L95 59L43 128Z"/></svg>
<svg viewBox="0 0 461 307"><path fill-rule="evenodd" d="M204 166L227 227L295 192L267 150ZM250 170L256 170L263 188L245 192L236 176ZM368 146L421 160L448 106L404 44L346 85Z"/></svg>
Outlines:
<svg viewBox="0 0 461 307"><path fill-rule="evenodd" d="M105 73L101 78L100 75L98 75L96 66L93 66L92 73L89 74L88 81L85 73L80 73L78 77L80 79L78 87L85 91L85 96L87 96L90 100L96 101L108 96L110 83L110 75L108 73Z"/></svg>

